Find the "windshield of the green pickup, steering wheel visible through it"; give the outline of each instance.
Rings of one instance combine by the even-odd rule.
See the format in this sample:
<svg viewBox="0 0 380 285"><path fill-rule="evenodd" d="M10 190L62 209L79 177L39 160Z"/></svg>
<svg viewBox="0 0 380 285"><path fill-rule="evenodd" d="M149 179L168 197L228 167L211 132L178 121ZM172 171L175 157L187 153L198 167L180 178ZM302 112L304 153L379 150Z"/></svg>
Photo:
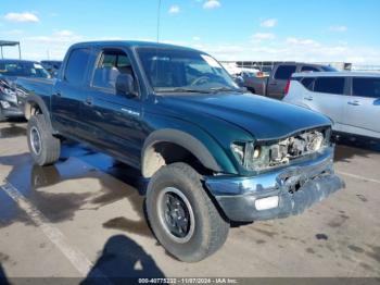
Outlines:
<svg viewBox="0 0 380 285"><path fill-rule="evenodd" d="M139 48L144 73L156 92L229 91L239 87L212 57L197 51Z"/></svg>

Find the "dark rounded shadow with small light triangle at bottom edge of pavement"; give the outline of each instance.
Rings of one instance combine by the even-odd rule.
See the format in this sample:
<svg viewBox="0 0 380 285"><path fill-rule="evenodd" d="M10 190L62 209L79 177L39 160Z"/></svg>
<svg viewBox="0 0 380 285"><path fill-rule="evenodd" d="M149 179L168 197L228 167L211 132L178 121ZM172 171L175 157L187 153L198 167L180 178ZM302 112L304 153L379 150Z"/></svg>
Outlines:
<svg viewBox="0 0 380 285"><path fill-rule="evenodd" d="M138 277L164 278L154 259L125 235L112 236L81 284L135 284Z"/></svg>

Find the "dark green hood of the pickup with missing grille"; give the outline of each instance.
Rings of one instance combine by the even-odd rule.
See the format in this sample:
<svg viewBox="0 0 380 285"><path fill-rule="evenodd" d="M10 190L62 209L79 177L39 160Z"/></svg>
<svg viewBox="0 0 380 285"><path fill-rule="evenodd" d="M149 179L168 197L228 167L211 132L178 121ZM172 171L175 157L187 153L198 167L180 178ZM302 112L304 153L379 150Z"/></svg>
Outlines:
<svg viewBox="0 0 380 285"><path fill-rule="evenodd" d="M181 117L191 111L192 116L206 114L227 121L257 140L279 139L303 129L331 125L329 119L314 111L251 94L164 96L162 103L167 110L178 111Z"/></svg>

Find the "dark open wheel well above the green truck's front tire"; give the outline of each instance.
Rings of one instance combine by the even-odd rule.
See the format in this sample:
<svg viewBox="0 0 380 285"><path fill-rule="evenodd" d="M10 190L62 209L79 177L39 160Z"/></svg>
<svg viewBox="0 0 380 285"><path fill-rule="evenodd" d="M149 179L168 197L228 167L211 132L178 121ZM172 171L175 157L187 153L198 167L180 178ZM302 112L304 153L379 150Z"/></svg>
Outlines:
<svg viewBox="0 0 380 285"><path fill-rule="evenodd" d="M174 142L162 141L155 142L145 149L142 161L142 174L144 177L149 178L162 166L175 162L185 162L202 175L212 173L212 171L206 169L188 149Z"/></svg>

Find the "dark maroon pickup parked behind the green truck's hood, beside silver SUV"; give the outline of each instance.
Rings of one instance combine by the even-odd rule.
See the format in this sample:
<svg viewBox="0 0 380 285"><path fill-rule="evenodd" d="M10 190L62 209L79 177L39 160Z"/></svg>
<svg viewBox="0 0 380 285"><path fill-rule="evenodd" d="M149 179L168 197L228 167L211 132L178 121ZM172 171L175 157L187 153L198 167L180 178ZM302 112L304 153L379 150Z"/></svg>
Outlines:
<svg viewBox="0 0 380 285"><path fill-rule="evenodd" d="M268 77L248 77L244 87L253 94L282 99L287 83L296 72L337 72L328 65L311 63L279 63L276 64Z"/></svg>

